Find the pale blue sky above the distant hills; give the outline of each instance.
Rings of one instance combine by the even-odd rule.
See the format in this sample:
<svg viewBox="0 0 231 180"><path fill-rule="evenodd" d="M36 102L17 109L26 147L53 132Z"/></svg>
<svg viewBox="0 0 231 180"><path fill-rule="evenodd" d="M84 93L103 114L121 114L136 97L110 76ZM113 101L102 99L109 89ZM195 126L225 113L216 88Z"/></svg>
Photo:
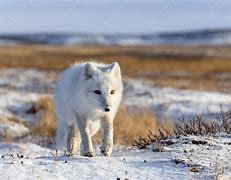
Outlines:
<svg viewBox="0 0 231 180"><path fill-rule="evenodd" d="M230 9L228 0L0 0L0 33L231 28Z"/></svg>

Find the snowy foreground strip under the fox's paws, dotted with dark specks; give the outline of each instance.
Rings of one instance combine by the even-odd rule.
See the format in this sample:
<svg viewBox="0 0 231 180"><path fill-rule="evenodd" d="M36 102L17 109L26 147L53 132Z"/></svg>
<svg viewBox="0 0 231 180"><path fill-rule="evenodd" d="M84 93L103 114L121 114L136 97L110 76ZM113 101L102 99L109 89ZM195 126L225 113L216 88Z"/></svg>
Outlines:
<svg viewBox="0 0 231 180"><path fill-rule="evenodd" d="M1 179L231 178L231 139L180 137L145 150L115 148L112 157L66 157L32 143L0 144ZM166 142L166 140L165 140ZM199 143L199 144L198 144ZM161 152L155 152L161 147ZM98 148L98 147L97 147ZM198 171L198 172L192 172Z"/></svg>

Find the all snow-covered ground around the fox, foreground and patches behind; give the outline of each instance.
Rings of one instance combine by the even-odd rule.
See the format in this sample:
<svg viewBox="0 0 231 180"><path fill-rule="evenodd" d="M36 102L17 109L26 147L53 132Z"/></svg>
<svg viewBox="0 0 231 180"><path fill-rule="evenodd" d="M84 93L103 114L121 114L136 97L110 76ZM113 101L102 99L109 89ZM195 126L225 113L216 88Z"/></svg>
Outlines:
<svg viewBox="0 0 231 180"><path fill-rule="evenodd" d="M24 123L38 123L39 114L26 111L33 102L52 93L57 78L54 72L33 69L0 70L1 137L29 133ZM172 120L195 113L216 114L219 104L225 111L231 107L231 94L163 88L135 80L124 82L123 100L127 106L148 107L160 119ZM198 139L206 144L192 143ZM231 137L189 136L171 141L174 144L163 146L163 152L153 152L161 144L145 150L117 146L110 158L100 153L95 158L64 157L63 152L56 157L54 149L36 140L1 143L0 179L213 179L219 168L224 171L223 179L231 179ZM191 172L192 168L199 172Z"/></svg>

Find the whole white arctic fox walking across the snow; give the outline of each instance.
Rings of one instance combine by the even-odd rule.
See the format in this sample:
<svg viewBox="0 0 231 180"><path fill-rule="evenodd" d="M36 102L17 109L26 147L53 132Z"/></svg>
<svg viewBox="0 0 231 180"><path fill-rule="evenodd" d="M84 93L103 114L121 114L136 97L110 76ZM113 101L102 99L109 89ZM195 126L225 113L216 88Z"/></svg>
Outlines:
<svg viewBox="0 0 231 180"><path fill-rule="evenodd" d="M93 157L91 137L102 127L101 153L110 156L113 119L122 97L122 80L117 62L75 64L63 72L54 92L58 119L56 145L74 155Z"/></svg>

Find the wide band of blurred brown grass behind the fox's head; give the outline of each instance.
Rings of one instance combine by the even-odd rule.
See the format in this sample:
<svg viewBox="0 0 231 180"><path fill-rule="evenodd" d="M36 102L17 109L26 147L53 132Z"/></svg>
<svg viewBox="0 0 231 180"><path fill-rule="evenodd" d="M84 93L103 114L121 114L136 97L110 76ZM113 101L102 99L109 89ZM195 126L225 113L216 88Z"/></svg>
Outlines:
<svg viewBox="0 0 231 180"><path fill-rule="evenodd" d="M221 80L215 73L231 71L229 47L0 47L0 68L23 67L60 71L74 62L118 61L124 77L139 77L163 86L206 90L231 89L231 79ZM163 76L168 72L191 72L192 76ZM159 72L153 75L153 72ZM198 73L204 73L197 76Z"/></svg>

